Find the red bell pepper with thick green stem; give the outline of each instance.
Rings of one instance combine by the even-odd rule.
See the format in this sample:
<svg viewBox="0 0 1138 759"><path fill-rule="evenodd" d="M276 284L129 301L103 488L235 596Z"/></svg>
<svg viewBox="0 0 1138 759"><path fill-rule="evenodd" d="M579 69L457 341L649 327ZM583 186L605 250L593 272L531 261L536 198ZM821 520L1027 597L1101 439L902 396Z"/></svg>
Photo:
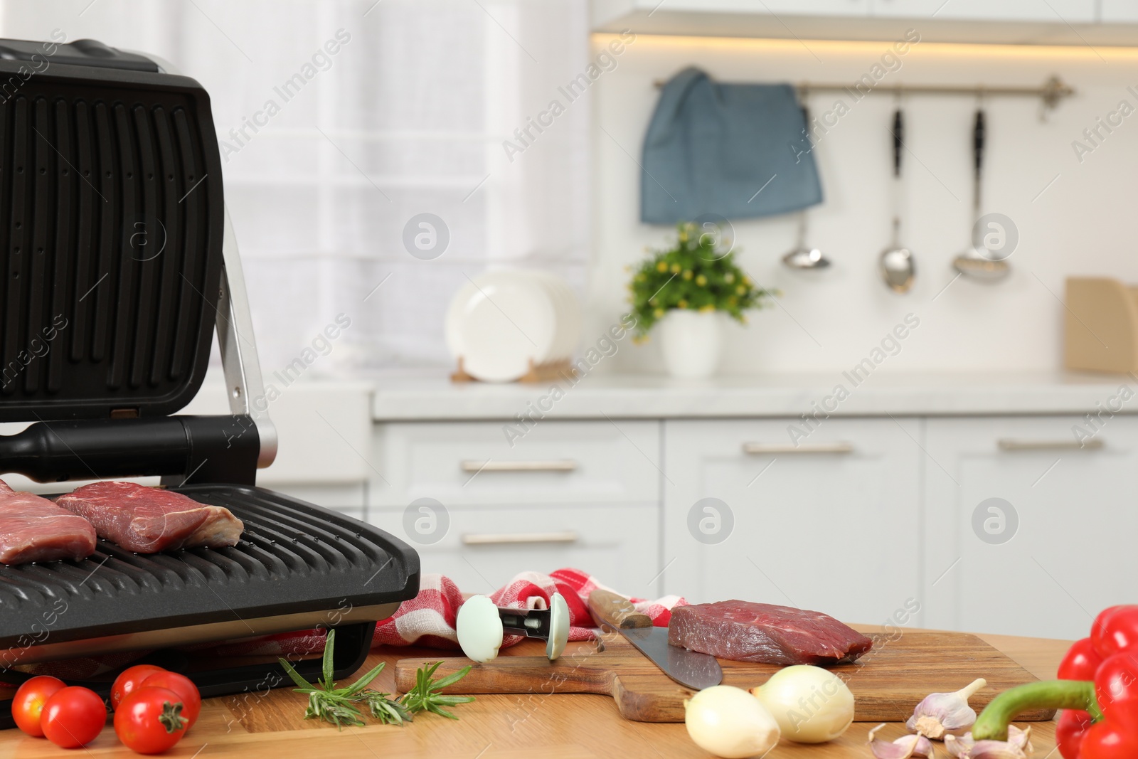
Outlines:
<svg viewBox="0 0 1138 759"><path fill-rule="evenodd" d="M1031 709L1063 709L1055 740L1064 759L1138 759L1138 605L1111 607L1077 642L1058 679L998 695L972 728L978 740L1007 740Z"/></svg>

